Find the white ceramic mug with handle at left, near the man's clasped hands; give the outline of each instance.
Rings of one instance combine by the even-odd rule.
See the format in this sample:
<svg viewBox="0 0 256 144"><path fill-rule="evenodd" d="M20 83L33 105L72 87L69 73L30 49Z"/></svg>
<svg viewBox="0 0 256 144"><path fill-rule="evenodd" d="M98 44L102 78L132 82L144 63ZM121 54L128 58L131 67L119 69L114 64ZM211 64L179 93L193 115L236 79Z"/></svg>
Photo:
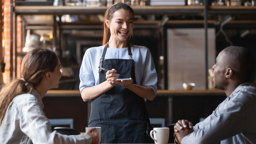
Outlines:
<svg viewBox="0 0 256 144"><path fill-rule="evenodd" d="M150 136L155 141L155 144L167 144L169 140L169 127L155 127L150 131Z"/></svg>

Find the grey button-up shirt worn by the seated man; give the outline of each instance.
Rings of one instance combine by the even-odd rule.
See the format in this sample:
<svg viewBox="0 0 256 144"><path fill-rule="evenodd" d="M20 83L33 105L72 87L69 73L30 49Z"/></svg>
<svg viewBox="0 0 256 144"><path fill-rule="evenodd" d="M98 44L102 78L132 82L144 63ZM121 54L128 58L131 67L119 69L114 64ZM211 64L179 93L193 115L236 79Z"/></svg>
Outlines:
<svg viewBox="0 0 256 144"><path fill-rule="evenodd" d="M256 144L256 83L241 84L182 144Z"/></svg>

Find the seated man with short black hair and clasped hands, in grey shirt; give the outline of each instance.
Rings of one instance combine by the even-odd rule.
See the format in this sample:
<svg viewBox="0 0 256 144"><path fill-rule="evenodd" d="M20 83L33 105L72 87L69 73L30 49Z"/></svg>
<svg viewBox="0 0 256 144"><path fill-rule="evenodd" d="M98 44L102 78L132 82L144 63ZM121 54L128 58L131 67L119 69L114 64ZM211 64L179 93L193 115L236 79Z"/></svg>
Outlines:
<svg viewBox="0 0 256 144"><path fill-rule="evenodd" d="M254 58L243 47L222 50L213 69L213 86L227 98L204 121L194 127L188 120L174 126L176 142L182 144L256 144L256 82L248 83Z"/></svg>

